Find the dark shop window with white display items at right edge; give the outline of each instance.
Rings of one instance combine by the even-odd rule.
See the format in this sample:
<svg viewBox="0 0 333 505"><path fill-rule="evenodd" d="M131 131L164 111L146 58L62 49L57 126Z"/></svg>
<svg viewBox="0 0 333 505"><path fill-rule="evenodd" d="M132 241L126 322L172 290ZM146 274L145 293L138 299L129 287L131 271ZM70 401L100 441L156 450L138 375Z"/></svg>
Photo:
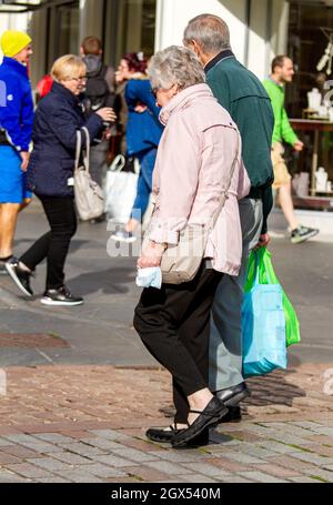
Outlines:
<svg viewBox="0 0 333 505"><path fill-rule="evenodd" d="M291 1L287 54L296 63L286 105L305 149L293 159L295 203L333 211L333 1Z"/></svg>

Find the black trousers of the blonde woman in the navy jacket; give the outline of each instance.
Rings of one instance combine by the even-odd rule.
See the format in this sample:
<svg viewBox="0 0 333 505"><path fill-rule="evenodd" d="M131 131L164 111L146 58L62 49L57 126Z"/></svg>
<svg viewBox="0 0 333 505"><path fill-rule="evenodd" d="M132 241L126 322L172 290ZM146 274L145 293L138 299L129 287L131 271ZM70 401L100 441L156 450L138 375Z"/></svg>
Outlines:
<svg viewBox="0 0 333 505"><path fill-rule="evenodd" d="M39 196L51 231L41 236L21 257L30 270L48 260L47 290L58 290L64 282L64 262L78 228L72 196Z"/></svg>

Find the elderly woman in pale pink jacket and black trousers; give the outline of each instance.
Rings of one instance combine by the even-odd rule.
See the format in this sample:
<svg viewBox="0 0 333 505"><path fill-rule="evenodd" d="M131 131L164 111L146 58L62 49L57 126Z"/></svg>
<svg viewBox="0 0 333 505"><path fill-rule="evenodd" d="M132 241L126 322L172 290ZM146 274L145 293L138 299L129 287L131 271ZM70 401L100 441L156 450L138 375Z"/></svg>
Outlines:
<svg viewBox="0 0 333 505"><path fill-rule="evenodd" d="M172 374L176 411L174 424L150 428L147 436L178 447L204 443L208 427L228 413L208 387L209 322L223 273L238 275L240 270L238 199L246 196L250 182L238 129L205 84L195 54L168 48L152 58L149 74L165 130L153 175L155 211L138 267L159 266L165 249L178 243L186 224L210 222L232 179L195 279L162 284L161 290L144 289L135 309L134 326L142 342Z"/></svg>

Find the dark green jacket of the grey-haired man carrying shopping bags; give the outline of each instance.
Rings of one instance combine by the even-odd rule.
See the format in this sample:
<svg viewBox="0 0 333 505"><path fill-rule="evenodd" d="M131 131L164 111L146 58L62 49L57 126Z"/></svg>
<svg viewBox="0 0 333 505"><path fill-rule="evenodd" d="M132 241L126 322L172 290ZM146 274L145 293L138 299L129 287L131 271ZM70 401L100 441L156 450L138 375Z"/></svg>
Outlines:
<svg viewBox="0 0 333 505"><path fill-rule="evenodd" d="M272 210L271 160L274 115L270 98L259 79L243 67L231 51L223 51L205 67L208 84L219 103L238 124L243 144L243 160L252 190L250 196L263 201L264 225Z"/></svg>

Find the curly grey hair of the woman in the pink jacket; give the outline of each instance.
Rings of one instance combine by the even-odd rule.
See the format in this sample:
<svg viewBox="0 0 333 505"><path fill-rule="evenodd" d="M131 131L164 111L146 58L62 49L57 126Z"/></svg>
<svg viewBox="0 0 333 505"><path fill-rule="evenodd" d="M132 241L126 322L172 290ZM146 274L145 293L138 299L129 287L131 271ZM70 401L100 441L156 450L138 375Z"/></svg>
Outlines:
<svg viewBox="0 0 333 505"><path fill-rule="evenodd" d="M193 51L181 46L158 52L148 67L152 88L169 89L178 84L180 90L205 82L205 73Z"/></svg>

